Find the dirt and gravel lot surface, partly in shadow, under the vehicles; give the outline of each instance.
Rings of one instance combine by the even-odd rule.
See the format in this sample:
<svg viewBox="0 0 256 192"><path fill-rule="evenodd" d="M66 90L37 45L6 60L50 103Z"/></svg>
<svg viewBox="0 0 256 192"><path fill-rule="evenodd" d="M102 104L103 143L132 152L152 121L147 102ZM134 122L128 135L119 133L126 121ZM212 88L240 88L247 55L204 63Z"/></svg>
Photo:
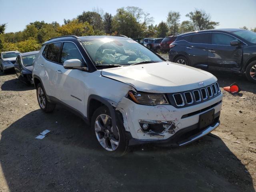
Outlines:
<svg viewBox="0 0 256 192"><path fill-rule="evenodd" d="M254 192L256 85L214 73L224 92L221 125L180 148L138 146L121 158L102 155L84 121L60 106L43 113L36 90L0 73L0 192ZM34 139L45 129L51 132Z"/></svg>

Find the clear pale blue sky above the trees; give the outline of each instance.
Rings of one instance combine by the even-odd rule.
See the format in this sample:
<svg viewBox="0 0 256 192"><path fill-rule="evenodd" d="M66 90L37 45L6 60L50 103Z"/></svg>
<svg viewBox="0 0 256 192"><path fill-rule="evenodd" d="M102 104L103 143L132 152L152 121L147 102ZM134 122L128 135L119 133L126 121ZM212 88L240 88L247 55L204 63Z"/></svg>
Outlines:
<svg viewBox="0 0 256 192"><path fill-rule="evenodd" d="M36 20L63 24L63 19L76 18L94 7L116 14L116 9L137 6L154 17L154 24L166 21L170 10L180 12L180 22L195 8L204 9L217 28L256 27L256 0L0 0L0 24L7 23L7 32L23 30Z"/></svg>

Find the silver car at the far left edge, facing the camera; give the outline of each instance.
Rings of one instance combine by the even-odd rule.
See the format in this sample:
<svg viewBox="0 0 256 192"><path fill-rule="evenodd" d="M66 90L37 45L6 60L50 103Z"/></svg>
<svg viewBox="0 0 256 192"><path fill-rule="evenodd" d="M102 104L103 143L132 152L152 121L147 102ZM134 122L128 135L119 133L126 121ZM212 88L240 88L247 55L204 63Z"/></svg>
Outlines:
<svg viewBox="0 0 256 192"><path fill-rule="evenodd" d="M18 51L2 52L0 54L0 70L5 73L8 69L14 69L18 54L20 54Z"/></svg>

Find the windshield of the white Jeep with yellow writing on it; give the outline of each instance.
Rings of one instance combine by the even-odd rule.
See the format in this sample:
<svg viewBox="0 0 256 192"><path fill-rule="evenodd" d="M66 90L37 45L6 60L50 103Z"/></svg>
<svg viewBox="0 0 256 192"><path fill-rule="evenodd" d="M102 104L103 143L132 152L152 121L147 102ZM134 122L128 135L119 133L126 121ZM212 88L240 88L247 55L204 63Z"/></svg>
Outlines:
<svg viewBox="0 0 256 192"><path fill-rule="evenodd" d="M103 38L83 41L82 45L96 66L163 61L146 47L131 39Z"/></svg>

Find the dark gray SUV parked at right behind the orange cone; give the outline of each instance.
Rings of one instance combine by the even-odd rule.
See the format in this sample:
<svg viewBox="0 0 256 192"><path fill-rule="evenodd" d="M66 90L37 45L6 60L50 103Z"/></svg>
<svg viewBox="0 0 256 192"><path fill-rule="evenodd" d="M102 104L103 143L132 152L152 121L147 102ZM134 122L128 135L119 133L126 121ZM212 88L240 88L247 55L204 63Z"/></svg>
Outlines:
<svg viewBox="0 0 256 192"><path fill-rule="evenodd" d="M179 35L170 44L169 60L210 70L245 72L256 83L256 33L214 29Z"/></svg>

